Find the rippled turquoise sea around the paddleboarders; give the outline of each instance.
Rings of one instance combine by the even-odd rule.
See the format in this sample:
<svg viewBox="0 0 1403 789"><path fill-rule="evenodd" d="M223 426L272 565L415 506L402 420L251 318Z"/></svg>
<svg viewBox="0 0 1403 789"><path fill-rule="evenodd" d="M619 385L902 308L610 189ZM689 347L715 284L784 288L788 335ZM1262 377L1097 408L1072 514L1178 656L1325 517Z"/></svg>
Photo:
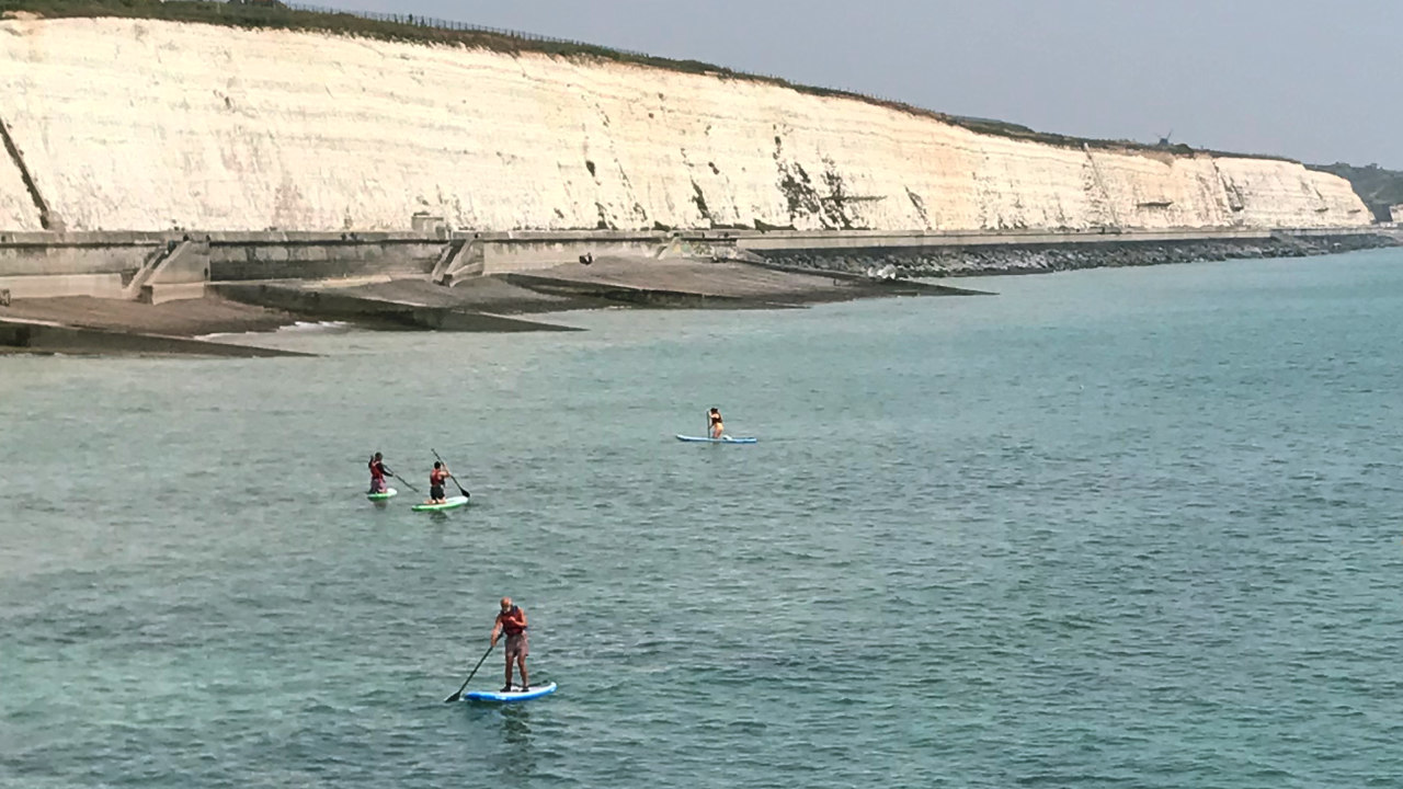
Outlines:
<svg viewBox="0 0 1403 789"><path fill-rule="evenodd" d="M0 359L0 786L1403 785L1403 251L967 284Z"/></svg>

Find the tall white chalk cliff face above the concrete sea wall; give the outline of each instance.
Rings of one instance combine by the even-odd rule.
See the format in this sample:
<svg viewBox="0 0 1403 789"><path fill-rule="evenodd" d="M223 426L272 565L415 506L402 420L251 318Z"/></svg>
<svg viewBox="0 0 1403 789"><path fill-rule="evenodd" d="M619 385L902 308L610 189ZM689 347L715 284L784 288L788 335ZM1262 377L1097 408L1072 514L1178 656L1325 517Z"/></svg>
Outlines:
<svg viewBox="0 0 1403 789"><path fill-rule="evenodd" d="M1350 226L1280 160L1063 147L748 80L180 22L0 21L0 119L70 230ZM0 159L0 230L38 211Z"/></svg>

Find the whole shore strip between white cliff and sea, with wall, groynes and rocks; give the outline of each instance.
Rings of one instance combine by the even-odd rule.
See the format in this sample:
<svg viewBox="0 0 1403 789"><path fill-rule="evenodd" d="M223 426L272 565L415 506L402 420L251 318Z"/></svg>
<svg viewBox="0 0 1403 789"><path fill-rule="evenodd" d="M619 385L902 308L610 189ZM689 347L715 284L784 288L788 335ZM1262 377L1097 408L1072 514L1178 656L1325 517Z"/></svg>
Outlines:
<svg viewBox="0 0 1403 789"><path fill-rule="evenodd" d="M0 233L0 351L258 355L187 341L299 320L560 331L603 306L774 309L978 295L948 279L1327 254L1395 229L1150 233L794 230ZM937 284L939 282L939 284Z"/></svg>

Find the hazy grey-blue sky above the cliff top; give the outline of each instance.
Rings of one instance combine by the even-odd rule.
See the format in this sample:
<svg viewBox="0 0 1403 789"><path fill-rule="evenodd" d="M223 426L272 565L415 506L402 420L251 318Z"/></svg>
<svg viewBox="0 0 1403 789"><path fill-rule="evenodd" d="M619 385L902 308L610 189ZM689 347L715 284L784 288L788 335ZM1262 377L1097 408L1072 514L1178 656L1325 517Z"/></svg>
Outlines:
<svg viewBox="0 0 1403 789"><path fill-rule="evenodd" d="M1403 168L1399 0L321 0L1038 131Z"/></svg>

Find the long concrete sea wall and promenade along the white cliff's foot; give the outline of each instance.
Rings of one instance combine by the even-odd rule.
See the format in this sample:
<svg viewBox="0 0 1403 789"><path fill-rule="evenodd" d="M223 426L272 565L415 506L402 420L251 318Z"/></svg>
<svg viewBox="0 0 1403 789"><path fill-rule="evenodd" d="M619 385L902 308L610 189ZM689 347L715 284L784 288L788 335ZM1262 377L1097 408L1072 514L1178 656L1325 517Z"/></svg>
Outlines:
<svg viewBox="0 0 1403 789"><path fill-rule="evenodd" d="M868 230L577 230L0 233L0 299L94 296L161 303L233 282L427 279L442 285L523 274L581 257L745 260L755 253L1177 244L1204 240L1393 234L1382 227L1183 232L890 233Z"/></svg>

